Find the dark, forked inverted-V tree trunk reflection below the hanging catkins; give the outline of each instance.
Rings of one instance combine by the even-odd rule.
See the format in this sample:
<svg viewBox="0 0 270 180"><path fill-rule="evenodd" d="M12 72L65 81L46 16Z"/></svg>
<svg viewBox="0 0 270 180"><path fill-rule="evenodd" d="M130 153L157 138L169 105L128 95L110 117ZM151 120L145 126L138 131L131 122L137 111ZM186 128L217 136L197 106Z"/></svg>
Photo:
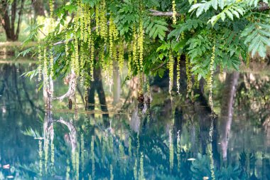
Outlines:
<svg viewBox="0 0 270 180"><path fill-rule="evenodd" d="M94 69L94 81L91 82L90 90L88 90L88 102L92 105L89 105L88 109L95 109L95 90L97 90L97 95L99 96L100 108L103 112L108 112L106 97L104 88L102 85L102 75L101 68ZM103 114L102 117L108 118L108 114Z"/></svg>

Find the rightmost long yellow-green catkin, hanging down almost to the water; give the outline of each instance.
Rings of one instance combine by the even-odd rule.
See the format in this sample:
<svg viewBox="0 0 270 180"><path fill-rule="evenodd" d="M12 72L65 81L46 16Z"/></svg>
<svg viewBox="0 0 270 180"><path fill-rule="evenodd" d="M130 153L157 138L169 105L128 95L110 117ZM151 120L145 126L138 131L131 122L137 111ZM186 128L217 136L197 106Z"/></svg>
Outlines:
<svg viewBox="0 0 270 180"><path fill-rule="evenodd" d="M212 46L212 56L210 60L210 74L207 77L207 87L210 91L209 94L209 103L210 107L213 110L213 101L212 101L212 76L214 74L214 62L215 62L215 43L214 46Z"/></svg>

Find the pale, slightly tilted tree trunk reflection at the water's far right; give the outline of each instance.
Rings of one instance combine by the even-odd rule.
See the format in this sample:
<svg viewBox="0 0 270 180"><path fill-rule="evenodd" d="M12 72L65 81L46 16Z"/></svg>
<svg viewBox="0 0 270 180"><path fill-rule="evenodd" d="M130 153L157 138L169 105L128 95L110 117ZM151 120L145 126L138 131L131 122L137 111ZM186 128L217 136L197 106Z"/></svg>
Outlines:
<svg viewBox="0 0 270 180"><path fill-rule="evenodd" d="M223 100L221 105L220 118L220 138L222 147L222 157L227 159L227 147L229 142L229 132L232 125L234 96L237 89L239 73L234 72L226 76L225 89L223 91Z"/></svg>

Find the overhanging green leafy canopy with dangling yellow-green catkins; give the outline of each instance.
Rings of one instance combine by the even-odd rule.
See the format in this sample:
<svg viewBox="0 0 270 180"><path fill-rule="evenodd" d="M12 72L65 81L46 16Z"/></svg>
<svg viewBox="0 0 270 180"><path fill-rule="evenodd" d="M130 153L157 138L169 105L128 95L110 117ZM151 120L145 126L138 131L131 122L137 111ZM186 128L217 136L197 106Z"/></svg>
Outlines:
<svg viewBox="0 0 270 180"><path fill-rule="evenodd" d="M270 46L268 0L77 0L58 9L53 3L39 71L57 77L74 70L86 86L98 66L112 83L114 62L121 72L126 60L129 78L162 76L166 64L171 72L184 55L187 75L205 78L211 90L217 67L238 70L241 60L249 63L249 53L265 58ZM26 42L38 29L42 25L29 28Z"/></svg>

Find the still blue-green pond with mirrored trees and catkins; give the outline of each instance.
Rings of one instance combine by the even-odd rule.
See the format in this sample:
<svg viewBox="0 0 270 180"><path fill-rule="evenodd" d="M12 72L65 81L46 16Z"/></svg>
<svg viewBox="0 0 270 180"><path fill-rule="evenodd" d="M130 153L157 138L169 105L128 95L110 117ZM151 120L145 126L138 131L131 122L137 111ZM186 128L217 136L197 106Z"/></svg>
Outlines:
<svg viewBox="0 0 270 180"><path fill-rule="evenodd" d="M215 115L200 97L171 98L159 80L140 107L119 76L112 92L104 85L107 110L94 92L85 111L78 86L77 111L65 100L45 111L41 84L21 77L34 68L0 64L0 179L270 179L267 74L217 75Z"/></svg>

